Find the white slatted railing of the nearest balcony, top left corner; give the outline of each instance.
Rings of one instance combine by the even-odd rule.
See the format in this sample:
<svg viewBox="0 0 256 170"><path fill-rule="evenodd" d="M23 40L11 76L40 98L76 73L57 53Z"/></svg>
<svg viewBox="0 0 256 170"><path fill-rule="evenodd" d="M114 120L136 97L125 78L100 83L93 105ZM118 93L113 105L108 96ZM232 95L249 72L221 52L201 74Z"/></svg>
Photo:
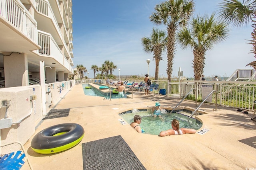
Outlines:
<svg viewBox="0 0 256 170"><path fill-rule="evenodd" d="M20 1L0 0L0 15L37 43L37 25Z"/></svg>

